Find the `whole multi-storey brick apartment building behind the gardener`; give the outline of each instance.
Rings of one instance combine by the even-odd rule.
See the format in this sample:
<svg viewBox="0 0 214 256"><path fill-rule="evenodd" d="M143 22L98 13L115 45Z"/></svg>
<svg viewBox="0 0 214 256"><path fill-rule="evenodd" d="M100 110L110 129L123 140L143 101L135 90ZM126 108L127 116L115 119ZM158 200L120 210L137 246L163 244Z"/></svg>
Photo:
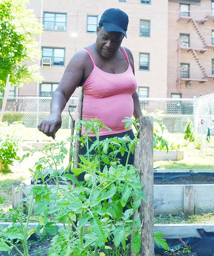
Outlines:
<svg viewBox="0 0 214 256"><path fill-rule="evenodd" d="M214 1L211 0L30 0L44 31L42 84L18 95L52 95L76 51L96 40L101 14L120 8L129 16L127 38L135 61L138 94L192 98L214 92Z"/></svg>

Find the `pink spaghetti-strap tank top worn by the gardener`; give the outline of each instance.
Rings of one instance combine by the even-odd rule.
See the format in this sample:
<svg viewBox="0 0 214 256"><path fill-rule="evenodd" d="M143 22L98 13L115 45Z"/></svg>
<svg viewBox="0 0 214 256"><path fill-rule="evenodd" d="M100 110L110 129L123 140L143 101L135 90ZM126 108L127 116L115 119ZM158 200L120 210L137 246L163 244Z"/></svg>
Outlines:
<svg viewBox="0 0 214 256"><path fill-rule="evenodd" d="M100 135L117 134L125 132L125 117L132 117L134 112L133 92L137 89L137 81L124 48L120 48L124 54L128 68L124 73L111 74L100 70L95 64L90 52L84 48L90 56L93 71L83 84L83 117L82 119L97 118L106 127L112 130L101 129ZM130 127L131 129L131 127ZM82 129L84 135L84 127ZM94 136L94 135L91 135Z"/></svg>

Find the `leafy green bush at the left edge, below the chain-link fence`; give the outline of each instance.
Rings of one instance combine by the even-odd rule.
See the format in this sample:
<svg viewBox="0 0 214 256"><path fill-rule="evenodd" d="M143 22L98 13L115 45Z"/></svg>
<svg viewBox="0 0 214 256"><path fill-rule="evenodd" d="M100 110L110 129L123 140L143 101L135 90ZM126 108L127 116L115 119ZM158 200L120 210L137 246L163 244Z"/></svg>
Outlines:
<svg viewBox="0 0 214 256"><path fill-rule="evenodd" d="M20 129L23 125L15 122L8 125L7 122L0 123L0 172L7 174L10 171L10 165L15 160L21 160L18 156L20 146Z"/></svg>

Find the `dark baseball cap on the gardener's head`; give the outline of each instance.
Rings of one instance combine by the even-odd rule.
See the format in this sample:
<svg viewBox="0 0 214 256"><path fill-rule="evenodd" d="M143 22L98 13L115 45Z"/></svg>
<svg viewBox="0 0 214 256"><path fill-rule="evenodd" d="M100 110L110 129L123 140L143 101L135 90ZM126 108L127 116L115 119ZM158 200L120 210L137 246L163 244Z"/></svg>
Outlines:
<svg viewBox="0 0 214 256"><path fill-rule="evenodd" d="M110 8L104 11L100 18L100 24L103 24L103 27L108 32L121 32L127 37L128 15L120 9Z"/></svg>

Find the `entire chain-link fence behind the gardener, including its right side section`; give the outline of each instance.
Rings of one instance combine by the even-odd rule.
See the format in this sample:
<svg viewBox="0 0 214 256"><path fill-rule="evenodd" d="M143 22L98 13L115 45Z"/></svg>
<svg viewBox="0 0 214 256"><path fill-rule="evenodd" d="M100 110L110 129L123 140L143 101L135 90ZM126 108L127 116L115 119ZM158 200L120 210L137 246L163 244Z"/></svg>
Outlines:
<svg viewBox="0 0 214 256"><path fill-rule="evenodd" d="M0 98L2 102L3 98ZM189 120L194 122L195 132L214 135L214 94L195 99L139 98L143 113L159 117L171 133L184 133ZM25 127L36 128L50 112L51 97L8 97L3 121L21 121ZM69 105L77 104L77 97L71 97L62 112L62 128L69 129L71 118ZM1 111L2 104L0 105ZM74 113L75 108L70 112Z"/></svg>

